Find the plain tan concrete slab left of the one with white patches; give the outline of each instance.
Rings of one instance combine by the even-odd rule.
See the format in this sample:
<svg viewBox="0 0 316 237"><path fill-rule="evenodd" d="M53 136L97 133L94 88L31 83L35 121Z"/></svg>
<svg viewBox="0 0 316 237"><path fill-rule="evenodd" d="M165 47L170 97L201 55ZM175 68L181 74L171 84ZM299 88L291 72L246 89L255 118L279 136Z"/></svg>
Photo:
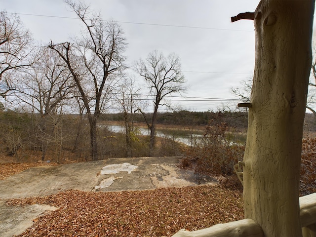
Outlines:
<svg viewBox="0 0 316 237"><path fill-rule="evenodd" d="M91 191L106 160L32 167L0 180L0 198L47 196L62 190Z"/></svg>

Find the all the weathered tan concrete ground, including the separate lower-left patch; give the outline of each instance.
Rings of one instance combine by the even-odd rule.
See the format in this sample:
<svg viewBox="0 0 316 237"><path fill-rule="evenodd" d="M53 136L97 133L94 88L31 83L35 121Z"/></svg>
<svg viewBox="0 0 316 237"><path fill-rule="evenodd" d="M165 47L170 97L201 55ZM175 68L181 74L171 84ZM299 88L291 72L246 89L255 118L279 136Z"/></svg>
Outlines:
<svg viewBox="0 0 316 237"><path fill-rule="evenodd" d="M7 206L10 198L41 197L63 190L110 192L216 184L211 177L180 170L180 157L111 158L57 166L31 167L0 180L0 236L11 237L32 226L47 205Z"/></svg>

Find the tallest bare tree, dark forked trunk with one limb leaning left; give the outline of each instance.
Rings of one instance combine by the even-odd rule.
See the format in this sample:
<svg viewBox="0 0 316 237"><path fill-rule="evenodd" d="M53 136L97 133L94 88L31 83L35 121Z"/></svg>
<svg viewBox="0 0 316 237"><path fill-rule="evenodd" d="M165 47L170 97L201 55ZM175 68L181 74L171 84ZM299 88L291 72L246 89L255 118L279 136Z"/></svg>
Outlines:
<svg viewBox="0 0 316 237"><path fill-rule="evenodd" d="M89 7L74 0L66 3L85 26L85 34L74 43L64 42L49 47L67 64L78 87L90 125L92 159L98 159L97 120L115 83L115 73L123 68L126 43L118 24L105 22L100 15L92 16Z"/></svg>

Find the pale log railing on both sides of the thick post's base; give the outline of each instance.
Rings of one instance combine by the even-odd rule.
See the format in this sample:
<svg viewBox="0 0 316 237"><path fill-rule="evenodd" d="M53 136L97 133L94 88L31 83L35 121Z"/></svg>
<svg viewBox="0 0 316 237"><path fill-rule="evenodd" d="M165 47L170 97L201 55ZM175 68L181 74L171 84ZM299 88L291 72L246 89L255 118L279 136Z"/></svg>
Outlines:
<svg viewBox="0 0 316 237"><path fill-rule="evenodd" d="M316 193L300 197L303 237L316 237ZM198 230L180 230L172 237L264 237L261 227L252 219L217 224Z"/></svg>

